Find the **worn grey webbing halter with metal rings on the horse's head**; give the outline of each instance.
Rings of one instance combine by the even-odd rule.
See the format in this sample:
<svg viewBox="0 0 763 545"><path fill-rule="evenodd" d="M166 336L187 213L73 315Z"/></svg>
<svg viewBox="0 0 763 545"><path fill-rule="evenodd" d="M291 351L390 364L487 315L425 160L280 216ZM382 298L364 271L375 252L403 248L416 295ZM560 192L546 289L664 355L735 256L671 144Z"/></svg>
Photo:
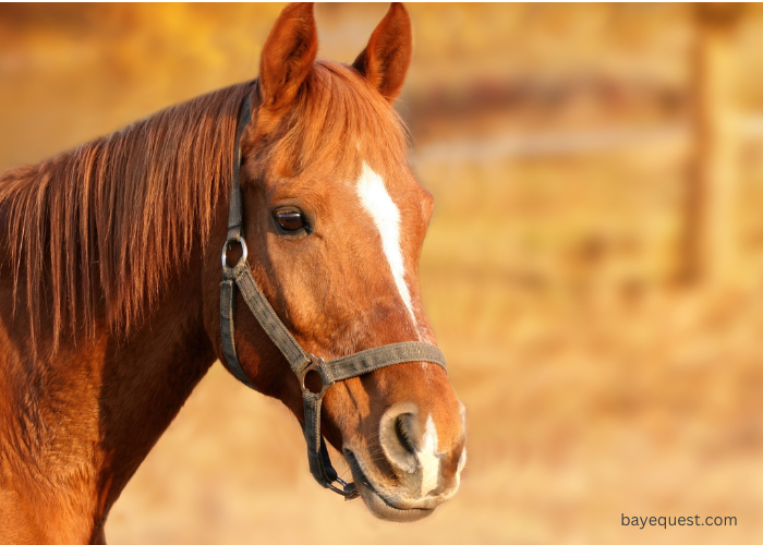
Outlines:
<svg viewBox="0 0 763 545"><path fill-rule="evenodd" d="M325 362L322 358L306 353L296 339L289 332L283 323L268 303L252 276L246 257L246 242L241 235L243 229L242 197L239 175L241 171L241 134L252 116L250 97L244 101L239 114L233 149L233 177L230 187L230 208L228 211L228 239L222 246L222 282L220 283L220 330L222 334L222 352L228 362L228 368L239 380L255 389L244 374L235 353L233 316L235 314L237 288L241 292L246 306L268 335L270 340L283 353L291 371L294 372L302 388L304 405L304 426L302 431L307 441L307 461L310 472L325 488L330 488L346 499L358 497L354 483L346 483L337 475L328 457L326 443L320 435L320 402L326 391L337 382L347 380L371 373L372 371L407 362L429 362L446 368L445 355L426 342L409 341L385 344L354 354L337 358ZM232 242L241 244L242 256L233 267L228 266L227 253ZM305 377L315 372L320 377L322 386L317 392L305 386ZM341 488L334 485L339 483Z"/></svg>

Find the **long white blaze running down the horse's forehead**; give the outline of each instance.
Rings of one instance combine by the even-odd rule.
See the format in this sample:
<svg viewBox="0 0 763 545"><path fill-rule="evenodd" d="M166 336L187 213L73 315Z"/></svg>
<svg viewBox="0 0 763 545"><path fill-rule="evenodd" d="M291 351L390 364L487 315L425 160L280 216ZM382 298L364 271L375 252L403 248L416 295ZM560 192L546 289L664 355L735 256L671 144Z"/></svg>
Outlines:
<svg viewBox="0 0 763 545"><path fill-rule="evenodd" d="M361 177L358 180L358 195L363 207L374 219L376 229L379 230L382 249L387 262L389 262L389 268L392 270L395 284L398 287L402 302L405 304L415 327L416 318L413 314L411 292L408 291L405 283L405 265L400 249L400 210L387 193L382 177L374 172L365 161L363 161Z"/></svg>

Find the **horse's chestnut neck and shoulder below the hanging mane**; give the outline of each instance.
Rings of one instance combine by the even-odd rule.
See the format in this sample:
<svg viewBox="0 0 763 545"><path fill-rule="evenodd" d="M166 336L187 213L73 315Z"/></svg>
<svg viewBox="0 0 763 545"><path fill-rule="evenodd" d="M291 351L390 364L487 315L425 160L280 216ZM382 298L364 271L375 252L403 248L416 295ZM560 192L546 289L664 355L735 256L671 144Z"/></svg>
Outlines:
<svg viewBox="0 0 763 545"><path fill-rule="evenodd" d="M50 339L39 339L36 356L23 312L12 315L12 275L3 262L0 255L0 493L14 491L14 501L26 501L51 535L97 532L215 361L202 319L201 256L168 279L129 336L99 319L95 335L64 340L56 351Z"/></svg>

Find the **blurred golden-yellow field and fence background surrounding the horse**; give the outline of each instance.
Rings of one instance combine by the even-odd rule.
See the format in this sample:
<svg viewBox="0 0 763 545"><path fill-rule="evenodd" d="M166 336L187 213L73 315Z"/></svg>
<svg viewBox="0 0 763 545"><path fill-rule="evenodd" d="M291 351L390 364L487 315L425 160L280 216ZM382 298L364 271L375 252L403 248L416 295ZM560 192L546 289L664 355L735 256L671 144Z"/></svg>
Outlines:
<svg viewBox="0 0 763 545"><path fill-rule="evenodd" d="M0 169L254 78L282 5L0 4ZM408 5L397 107L437 202L421 282L468 408L461 491L375 520L216 364L109 543L760 542L763 8ZM386 9L317 4L319 56L351 62Z"/></svg>

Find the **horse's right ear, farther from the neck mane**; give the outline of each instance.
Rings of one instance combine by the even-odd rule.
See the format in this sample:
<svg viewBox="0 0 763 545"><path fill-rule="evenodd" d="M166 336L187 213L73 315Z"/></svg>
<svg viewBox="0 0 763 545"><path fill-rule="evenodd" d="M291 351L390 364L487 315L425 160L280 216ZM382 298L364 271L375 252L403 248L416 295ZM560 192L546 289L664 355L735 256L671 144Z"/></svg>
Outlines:
<svg viewBox="0 0 763 545"><path fill-rule="evenodd" d="M402 3L392 2L371 35L368 45L352 65L391 102L405 81L405 72L411 64L412 43L408 10Z"/></svg>

